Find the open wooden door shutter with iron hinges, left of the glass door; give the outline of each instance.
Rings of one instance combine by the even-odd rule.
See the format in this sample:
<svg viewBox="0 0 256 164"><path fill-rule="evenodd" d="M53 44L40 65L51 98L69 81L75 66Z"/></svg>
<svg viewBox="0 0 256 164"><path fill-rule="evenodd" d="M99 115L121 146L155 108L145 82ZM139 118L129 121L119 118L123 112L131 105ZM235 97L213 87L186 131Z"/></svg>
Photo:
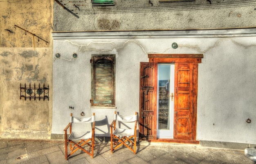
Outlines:
<svg viewBox="0 0 256 164"><path fill-rule="evenodd" d="M139 133L157 139L157 63L140 63Z"/></svg>

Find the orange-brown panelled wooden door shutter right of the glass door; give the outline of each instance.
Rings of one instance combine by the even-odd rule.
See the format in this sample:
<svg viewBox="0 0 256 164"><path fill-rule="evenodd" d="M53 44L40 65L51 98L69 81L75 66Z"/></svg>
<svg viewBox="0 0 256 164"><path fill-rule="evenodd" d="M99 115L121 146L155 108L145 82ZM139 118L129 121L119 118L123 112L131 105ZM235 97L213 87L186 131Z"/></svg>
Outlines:
<svg viewBox="0 0 256 164"><path fill-rule="evenodd" d="M193 63L175 63L174 139L192 140Z"/></svg>

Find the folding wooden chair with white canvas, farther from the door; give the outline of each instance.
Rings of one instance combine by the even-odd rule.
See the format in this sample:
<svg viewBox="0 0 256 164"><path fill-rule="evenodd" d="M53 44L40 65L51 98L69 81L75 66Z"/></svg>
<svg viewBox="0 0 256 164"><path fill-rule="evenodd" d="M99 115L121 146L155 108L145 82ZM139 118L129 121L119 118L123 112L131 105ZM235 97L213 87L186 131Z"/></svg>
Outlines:
<svg viewBox="0 0 256 164"><path fill-rule="evenodd" d="M75 129L72 125L79 125L79 130ZM92 124L92 125L91 125ZM70 129L70 135L67 137L67 129ZM65 131L65 158L72 155L77 150L81 149L85 153L89 154L93 158L93 149L94 149L94 128L95 128L95 114L87 118L77 118L70 116L70 123L64 129ZM67 154L67 145L70 144L70 153ZM83 146L87 144L89 150L85 150ZM91 150L91 153L90 153Z"/></svg>

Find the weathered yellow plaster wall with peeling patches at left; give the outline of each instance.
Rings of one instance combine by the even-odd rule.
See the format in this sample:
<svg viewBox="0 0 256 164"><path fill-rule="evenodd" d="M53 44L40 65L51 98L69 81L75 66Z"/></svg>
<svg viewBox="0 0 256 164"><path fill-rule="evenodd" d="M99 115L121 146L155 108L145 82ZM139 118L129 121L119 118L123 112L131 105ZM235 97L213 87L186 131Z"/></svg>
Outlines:
<svg viewBox="0 0 256 164"><path fill-rule="evenodd" d="M0 1L0 138L50 136L52 5L52 0ZM20 83L49 85L49 101L20 100Z"/></svg>

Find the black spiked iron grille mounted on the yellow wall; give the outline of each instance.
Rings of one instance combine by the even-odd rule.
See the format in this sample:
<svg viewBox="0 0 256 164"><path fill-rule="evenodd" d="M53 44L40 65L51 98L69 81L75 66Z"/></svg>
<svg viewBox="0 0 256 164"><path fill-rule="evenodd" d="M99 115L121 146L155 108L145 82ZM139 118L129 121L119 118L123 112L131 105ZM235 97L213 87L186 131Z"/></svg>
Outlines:
<svg viewBox="0 0 256 164"><path fill-rule="evenodd" d="M38 87L36 87L36 84L34 84L34 87L31 87L31 84L29 83L29 86L27 87L25 83L24 87L22 87L20 83L20 100L22 97L24 97L25 100L29 98L30 101L31 99L36 100L36 98L38 98L39 101L40 99L43 99L44 101L47 99L49 101L49 85L45 87L44 83L43 87L40 87L39 83Z"/></svg>

